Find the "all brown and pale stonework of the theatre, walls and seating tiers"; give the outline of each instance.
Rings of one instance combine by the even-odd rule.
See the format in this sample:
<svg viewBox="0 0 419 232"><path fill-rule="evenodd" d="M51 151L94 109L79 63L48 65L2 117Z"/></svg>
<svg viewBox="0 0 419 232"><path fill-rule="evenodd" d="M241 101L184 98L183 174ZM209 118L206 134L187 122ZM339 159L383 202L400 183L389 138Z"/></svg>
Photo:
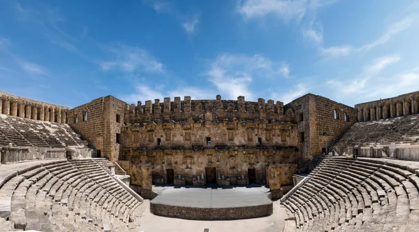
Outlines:
<svg viewBox="0 0 419 232"><path fill-rule="evenodd" d="M270 198L282 197L289 231L418 229L403 222L419 222L419 92L354 108L314 94L286 105L220 95L130 105L104 96L72 109L0 97L0 229L129 231L156 184L266 184ZM272 204L196 208L198 216L170 207L152 204L152 212L272 214Z"/></svg>

